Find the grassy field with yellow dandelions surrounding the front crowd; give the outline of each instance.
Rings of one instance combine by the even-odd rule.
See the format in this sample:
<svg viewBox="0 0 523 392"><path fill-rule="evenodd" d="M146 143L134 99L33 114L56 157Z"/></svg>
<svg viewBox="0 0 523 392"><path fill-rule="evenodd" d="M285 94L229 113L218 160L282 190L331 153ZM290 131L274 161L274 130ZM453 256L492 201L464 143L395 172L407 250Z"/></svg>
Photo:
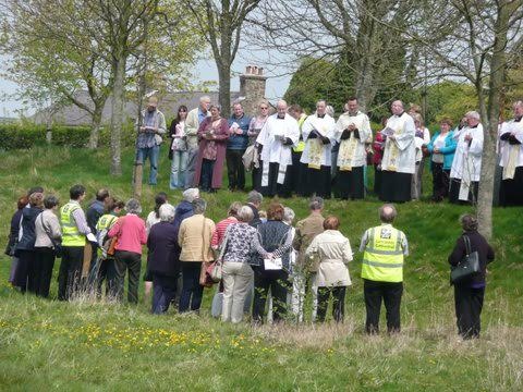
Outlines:
<svg viewBox="0 0 523 392"><path fill-rule="evenodd" d="M162 151L159 185L144 185L144 215L153 207L154 194L168 191L166 155ZM0 237L7 238L15 199L32 185L44 185L63 201L74 183L86 185L88 199L101 186L129 198L132 159L132 151L125 151L123 175L114 179L108 174L105 150L39 147L0 152ZM428 174L425 184L428 196ZM172 204L181 199L179 192L169 195ZM229 204L245 196L226 191L205 195L208 216L224 218ZM297 219L307 215L306 200L283 203ZM377 207L372 196L332 200L326 213L341 218L341 230L355 250L364 230L377 224ZM2 254L0 390L523 390L523 208L494 211L496 261L489 268L482 339L473 342L457 338L447 266L460 233L458 217L470 208L416 201L398 210L396 225L406 233L411 256L404 271L402 332L394 336L363 333L358 253L349 267L353 285L343 324L262 328L212 319L212 291L207 290L200 317L174 311L155 317L143 302L127 306L22 296L7 284L10 260ZM52 296L56 291L53 279Z"/></svg>

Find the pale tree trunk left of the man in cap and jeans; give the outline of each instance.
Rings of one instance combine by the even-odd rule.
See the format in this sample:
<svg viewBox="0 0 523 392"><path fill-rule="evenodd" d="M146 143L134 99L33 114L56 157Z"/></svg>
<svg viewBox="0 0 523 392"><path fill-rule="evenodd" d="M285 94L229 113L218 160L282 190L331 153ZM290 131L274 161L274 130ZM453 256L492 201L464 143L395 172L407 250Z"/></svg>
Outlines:
<svg viewBox="0 0 523 392"><path fill-rule="evenodd" d="M122 175L122 123L124 106L125 58L121 57L113 64L114 89L112 93L111 113L111 174Z"/></svg>

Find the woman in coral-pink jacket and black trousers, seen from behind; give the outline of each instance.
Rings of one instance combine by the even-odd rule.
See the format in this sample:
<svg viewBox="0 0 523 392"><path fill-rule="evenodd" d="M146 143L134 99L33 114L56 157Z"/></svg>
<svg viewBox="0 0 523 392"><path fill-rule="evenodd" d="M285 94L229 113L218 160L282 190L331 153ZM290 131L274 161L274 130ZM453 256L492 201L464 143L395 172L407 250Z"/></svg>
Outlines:
<svg viewBox="0 0 523 392"><path fill-rule="evenodd" d="M111 295L123 301L123 281L129 270L127 301L138 303L139 269L142 267L142 245L147 243L145 222L138 215L142 212L139 201L132 198L125 204L126 216L118 219L109 230L109 237L117 237L114 246L115 282Z"/></svg>

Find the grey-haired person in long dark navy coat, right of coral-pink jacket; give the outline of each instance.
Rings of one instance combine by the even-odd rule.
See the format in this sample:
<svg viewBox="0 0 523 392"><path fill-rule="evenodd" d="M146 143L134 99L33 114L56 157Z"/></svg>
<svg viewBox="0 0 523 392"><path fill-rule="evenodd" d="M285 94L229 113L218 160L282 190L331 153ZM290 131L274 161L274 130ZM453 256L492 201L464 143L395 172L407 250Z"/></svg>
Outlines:
<svg viewBox="0 0 523 392"><path fill-rule="evenodd" d="M155 315L165 314L177 294L180 265L177 257L177 230L171 224L174 207L163 204L159 208L160 222L150 228L147 238L149 271L153 278L153 307Z"/></svg>

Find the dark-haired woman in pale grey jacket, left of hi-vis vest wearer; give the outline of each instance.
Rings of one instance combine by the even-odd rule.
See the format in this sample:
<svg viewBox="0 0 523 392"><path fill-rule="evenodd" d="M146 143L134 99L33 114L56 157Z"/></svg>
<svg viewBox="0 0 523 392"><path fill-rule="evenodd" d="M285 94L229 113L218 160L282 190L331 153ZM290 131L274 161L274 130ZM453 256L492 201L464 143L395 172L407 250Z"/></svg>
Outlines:
<svg viewBox="0 0 523 392"><path fill-rule="evenodd" d="M45 210L35 221L35 253L37 268L35 270L35 294L42 297L49 296L52 268L54 267L56 245L62 238L60 221L57 217L59 200L54 195L44 198Z"/></svg>

